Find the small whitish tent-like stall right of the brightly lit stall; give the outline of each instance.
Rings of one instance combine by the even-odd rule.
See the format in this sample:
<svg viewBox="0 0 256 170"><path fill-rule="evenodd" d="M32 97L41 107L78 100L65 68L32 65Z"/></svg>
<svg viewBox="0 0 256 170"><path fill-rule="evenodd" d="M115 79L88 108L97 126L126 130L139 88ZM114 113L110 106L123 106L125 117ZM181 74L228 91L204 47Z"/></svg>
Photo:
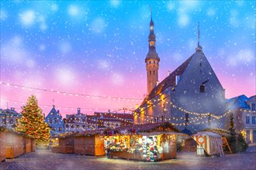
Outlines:
<svg viewBox="0 0 256 170"><path fill-rule="evenodd" d="M197 143L196 155L220 155L223 156L223 141L220 134L210 131L199 131L192 134Z"/></svg>

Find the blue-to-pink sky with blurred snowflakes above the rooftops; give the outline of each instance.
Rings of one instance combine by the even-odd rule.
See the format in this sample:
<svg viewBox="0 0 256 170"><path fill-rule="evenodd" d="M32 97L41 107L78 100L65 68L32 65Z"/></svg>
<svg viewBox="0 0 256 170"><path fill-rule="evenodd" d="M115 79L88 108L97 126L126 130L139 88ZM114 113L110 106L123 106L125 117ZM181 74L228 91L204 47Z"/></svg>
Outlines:
<svg viewBox="0 0 256 170"><path fill-rule="evenodd" d="M160 81L195 52L200 22L200 44L226 98L256 93L254 1L0 3L3 109L20 111L35 94L45 114L53 104L63 115L77 107L130 113L147 93L150 6Z"/></svg>

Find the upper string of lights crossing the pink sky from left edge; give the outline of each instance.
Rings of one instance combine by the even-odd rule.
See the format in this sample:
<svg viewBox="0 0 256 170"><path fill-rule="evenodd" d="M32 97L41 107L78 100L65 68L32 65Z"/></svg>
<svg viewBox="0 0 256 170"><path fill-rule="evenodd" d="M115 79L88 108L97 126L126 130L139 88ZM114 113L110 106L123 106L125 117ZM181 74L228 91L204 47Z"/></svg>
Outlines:
<svg viewBox="0 0 256 170"><path fill-rule="evenodd" d="M61 93L66 96L74 96L74 97L88 97L88 98L102 98L102 99L109 99L109 100L126 100L126 101L137 101L137 102L142 102L141 99L137 98L126 98L126 97L110 97L110 96L105 96L105 95L91 95L91 94L85 94L85 93L71 93L71 92L66 92L66 91L60 91L60 90L52 90L52 89L42 89L42 88L37 88L37 87L25 87L17 84L12 84L12 83L5 83L5 82L0 82L0 85L6 85L8 87L15 87L15 88L22 88L23 90L36 90L36 91L43 91L43 92L50 92L50 93Z"/></svg>

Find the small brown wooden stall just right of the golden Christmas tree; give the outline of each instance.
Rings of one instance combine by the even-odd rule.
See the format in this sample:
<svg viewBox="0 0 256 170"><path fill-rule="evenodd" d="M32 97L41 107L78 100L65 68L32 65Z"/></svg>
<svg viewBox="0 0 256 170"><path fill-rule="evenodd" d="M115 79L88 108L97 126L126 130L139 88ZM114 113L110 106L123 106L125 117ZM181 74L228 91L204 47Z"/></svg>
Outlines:
<svg viewBox="0 0 256 170"><path fill-rule="evenodd" d="M54 153L61 154L74 154L74 134L64 133L53 138L53 148Z"/></svg>

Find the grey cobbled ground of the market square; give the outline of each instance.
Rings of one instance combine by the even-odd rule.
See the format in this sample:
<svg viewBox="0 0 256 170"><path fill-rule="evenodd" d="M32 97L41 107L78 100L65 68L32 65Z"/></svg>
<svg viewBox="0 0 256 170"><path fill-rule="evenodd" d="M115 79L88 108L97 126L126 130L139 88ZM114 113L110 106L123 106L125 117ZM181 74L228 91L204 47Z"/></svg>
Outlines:
<svg viewBox="0 0 256 170"><path fill-rule="evenodd" d="M161 162L138 162L85 155L54 154L37 150L2 162L0 169L255 169L256 145L244 153L224 157L196 157L192 152L179 152L177 158Z"/></svg>

